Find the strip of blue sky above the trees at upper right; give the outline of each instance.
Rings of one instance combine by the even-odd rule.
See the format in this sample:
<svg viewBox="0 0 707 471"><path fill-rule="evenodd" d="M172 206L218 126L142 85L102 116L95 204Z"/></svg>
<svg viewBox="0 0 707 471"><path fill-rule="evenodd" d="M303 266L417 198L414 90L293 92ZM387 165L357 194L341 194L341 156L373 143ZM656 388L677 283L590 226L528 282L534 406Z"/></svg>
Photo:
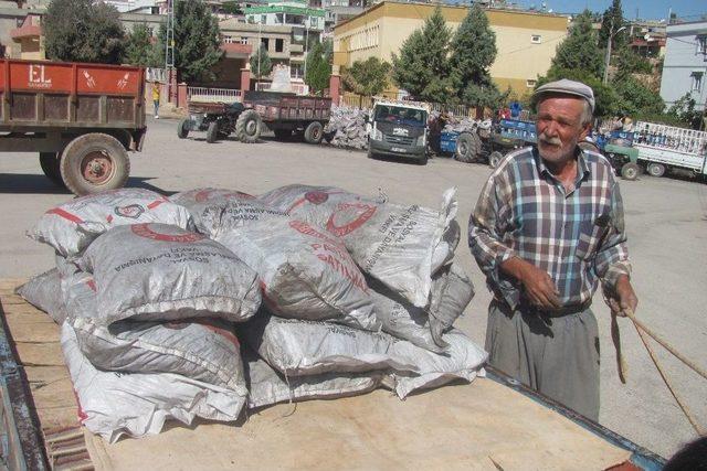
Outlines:
<svg viewBox="0 0 707 471"><path fill-rule="evenodd" d="M521 7L529 8L535 6L540 9L542 1L547 3L548 9L552 9L558 13L579 13L585 8L591 11L603 12L611 6L611 0L510 0ZM636 18L636 9L639 18L643 20L661 20L666 19L668 10L679 18L694 17L692 20L697 21L699 17L707 15L707 2L705 0L622 0L623 15L626 20ZM689 20L689 18L686 18Z"/></svg>

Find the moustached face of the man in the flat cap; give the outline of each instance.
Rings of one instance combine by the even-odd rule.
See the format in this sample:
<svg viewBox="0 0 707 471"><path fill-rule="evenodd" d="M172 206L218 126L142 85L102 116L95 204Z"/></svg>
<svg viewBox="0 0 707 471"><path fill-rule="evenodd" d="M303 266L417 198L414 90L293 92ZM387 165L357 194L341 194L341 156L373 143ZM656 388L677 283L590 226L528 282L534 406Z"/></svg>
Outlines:
<svg viewBox="0 0 707 471"><path fill-rule="evenodd" d="M550 163L562 163L574 156L577 142L589 132L582 126L582 98L548 97L538 105L536 128L540 157Z"/></svg>

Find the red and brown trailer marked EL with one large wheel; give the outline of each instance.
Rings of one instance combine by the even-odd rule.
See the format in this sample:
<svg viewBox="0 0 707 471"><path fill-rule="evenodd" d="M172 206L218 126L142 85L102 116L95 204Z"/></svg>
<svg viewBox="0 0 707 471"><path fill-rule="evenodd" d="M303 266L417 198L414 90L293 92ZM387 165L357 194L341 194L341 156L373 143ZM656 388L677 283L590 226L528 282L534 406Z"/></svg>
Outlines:
<svg viewBox="0 0 707 471"><path fill-rule="evenodd" d="M147 130L144 84L141 67L0 60L0 151L38 152L77 195L122 188Z"/></svg>

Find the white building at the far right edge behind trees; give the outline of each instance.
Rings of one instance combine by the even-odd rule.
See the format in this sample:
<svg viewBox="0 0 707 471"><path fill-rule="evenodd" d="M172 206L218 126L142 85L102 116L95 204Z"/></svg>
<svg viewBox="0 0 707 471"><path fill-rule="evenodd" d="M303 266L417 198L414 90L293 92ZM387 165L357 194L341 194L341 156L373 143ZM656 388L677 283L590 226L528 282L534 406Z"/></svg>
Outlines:
<svg viewBox="0 0 707 471"><path fill-rule="evenodd" d="M668 24L661 79L661 97L667 107L689 94L696 109L707 100L707 21Z"/></svg>

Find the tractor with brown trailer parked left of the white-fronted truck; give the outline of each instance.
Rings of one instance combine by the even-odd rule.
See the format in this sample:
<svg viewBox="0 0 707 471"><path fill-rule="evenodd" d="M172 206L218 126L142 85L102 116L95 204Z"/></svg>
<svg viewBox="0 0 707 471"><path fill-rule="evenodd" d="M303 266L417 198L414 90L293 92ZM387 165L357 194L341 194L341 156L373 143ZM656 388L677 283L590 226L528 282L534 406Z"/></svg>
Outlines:
<svg viewBox="0 0 707 471"><path fill-rule="evenodd" d="M179 122L177 136L184 139L190 131L205 131L207 142L215 142L235 133L240 141L253 143L265 126L278 139L297 133L317 144L330 116L331 98L250 90L243 94L242 101L190 101L189 117Z"/></svg>

